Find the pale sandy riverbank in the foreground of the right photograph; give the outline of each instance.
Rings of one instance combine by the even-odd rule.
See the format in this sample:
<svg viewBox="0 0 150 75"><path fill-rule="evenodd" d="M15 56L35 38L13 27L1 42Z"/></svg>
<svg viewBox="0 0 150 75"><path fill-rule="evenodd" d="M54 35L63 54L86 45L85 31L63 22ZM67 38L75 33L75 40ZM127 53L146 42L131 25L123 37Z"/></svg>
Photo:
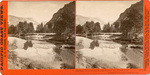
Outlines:
<svg viewBox="0 0 150 75"><path fill-rule="evenodd" d="M123 53L120 50L122 45L119 43L98 40L99 47L91 50L89 48L91 39L79 36L76 39L77 68L142 68L142 56L136 54L132 49L127 50L127 54Z"/></svg>

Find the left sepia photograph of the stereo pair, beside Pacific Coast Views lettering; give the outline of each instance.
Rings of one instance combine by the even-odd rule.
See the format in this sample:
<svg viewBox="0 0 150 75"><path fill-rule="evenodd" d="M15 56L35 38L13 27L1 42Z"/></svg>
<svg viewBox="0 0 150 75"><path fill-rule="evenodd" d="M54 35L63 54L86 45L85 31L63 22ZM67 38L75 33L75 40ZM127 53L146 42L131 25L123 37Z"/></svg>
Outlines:
<svg viewBox="0 0 150 75"><path fill-rule="evenodd" d="M75 2L8 1L8 69L74 69Z"/></svg>

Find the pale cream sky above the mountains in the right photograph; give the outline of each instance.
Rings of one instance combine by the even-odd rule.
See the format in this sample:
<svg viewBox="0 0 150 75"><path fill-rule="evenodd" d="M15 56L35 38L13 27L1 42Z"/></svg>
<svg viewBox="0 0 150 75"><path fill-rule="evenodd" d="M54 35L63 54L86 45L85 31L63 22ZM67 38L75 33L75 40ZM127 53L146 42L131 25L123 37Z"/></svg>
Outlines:
<svg viewBox="0 0 150 75"><path fill-rule="evenodd" d="M138 1L77 1L77 15L97 17L104 22L114 22L127 8Z"/></svg>

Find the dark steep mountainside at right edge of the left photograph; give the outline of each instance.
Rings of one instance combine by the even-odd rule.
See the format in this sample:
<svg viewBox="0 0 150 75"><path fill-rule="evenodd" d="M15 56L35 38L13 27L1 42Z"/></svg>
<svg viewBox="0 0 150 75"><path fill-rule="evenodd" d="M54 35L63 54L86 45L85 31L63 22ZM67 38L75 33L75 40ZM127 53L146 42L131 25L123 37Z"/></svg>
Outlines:
<svg viewBox="0 0 150 75"><path fill-rule="evenodd" d="M75 25L75 2L65 4L63 8L54 13L52 19L46 25L48 25L51 32L58 34L73 30Z"/></svg>

